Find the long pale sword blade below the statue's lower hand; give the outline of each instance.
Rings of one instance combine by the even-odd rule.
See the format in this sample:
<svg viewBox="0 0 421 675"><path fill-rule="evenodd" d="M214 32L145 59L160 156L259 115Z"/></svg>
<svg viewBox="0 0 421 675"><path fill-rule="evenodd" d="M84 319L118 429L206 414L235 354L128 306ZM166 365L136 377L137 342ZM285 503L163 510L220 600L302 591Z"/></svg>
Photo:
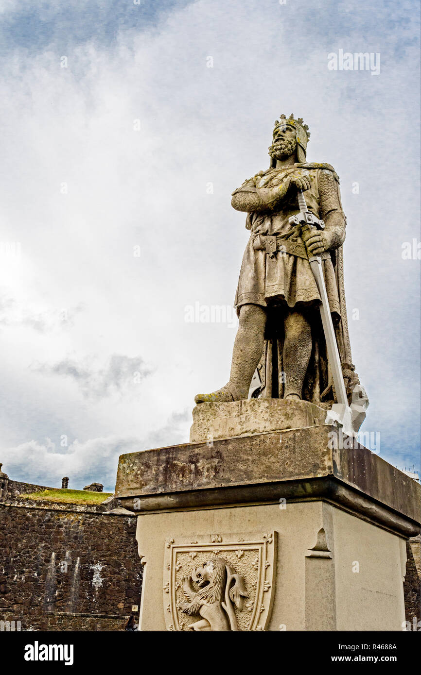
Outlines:
<svg viewBox="0 0 421 675"><path fill-rule="evenodd" d="M313 258L309 258L309 263L314 274L314 279L316 280L320 298L322 300L322 304L320 305L320 317L322 317L324 338L326 340L326 349L328 352L330 370L332 371L333 383L335 384L337 400L338 403L348 406L347 392L345 390L345 383L343 381L341 357L339 356L337 338L332 323L332 316L330 315L326 284L324 283L322 261L320 257L315 256Z"/></svg>

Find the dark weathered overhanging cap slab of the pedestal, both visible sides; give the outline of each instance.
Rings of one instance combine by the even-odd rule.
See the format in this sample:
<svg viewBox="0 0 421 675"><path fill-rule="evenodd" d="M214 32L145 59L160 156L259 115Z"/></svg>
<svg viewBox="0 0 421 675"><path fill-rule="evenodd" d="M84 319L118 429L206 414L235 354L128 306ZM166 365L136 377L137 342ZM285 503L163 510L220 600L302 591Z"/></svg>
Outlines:
<svg viewBox="0 0 421 675"><path fill-rule="evenodd" d="M420 485L370 450L342 445L326 425L134 452L120 457L116 497L134 511L324 498L416 535Z"/></svg>

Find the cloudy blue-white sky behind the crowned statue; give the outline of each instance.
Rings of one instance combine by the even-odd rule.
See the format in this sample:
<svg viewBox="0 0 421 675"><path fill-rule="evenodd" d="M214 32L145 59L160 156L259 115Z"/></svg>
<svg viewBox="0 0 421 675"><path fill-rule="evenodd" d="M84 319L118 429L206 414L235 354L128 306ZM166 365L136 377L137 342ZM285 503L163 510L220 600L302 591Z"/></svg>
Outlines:
<svg viewBox="0 0 421 675"><path fill-rule="evenodd" d="M230 369L249 236L230 194L268 167L291 112L308 161L341 179L362 431L419 468L418 14L412 0L0 1L11 479L114 491L120 454L189 440L195 394ZM330 70L340 50L379 72ZM192 306L227 320L187 321Z"/></svg>

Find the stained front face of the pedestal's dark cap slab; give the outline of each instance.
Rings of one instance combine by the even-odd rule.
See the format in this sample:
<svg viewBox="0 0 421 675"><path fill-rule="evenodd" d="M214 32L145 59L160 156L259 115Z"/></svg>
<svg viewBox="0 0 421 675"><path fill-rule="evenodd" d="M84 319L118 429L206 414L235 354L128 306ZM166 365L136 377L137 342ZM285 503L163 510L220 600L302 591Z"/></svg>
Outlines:
<svg viewBox="0 0 421 675"><path fill-rule="evenodd" d="M332 472L329 430L314 427L128 453L120 456L116 497L324 476Z"/></svg>

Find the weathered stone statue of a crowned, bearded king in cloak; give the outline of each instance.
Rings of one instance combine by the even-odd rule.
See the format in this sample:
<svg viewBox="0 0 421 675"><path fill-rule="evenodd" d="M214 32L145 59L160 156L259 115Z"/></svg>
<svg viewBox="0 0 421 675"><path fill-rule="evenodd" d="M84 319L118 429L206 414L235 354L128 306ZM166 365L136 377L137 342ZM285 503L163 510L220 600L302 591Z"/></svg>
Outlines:
<svg viewBox="0 0 421 675"><path fill-rule="evenodd" d="M309 131L303 119L275 121L270 167L232 192L232 207L247 213L250 238L243 256L234 306L239 329L230 379L195 402L230 402L248 397L257 368L264 398L307 400L328 408L337 402L320 321L320 294L309 257L322 259L324 285L335 329L346 396L366 396L351 362L343 284L346 218L339 178L330 164L306 163ZM303 191L308 211L324 229L291 225ZM253 394L254 396L254 394ZM355 398L355 392L354 392Z"/></svg>

